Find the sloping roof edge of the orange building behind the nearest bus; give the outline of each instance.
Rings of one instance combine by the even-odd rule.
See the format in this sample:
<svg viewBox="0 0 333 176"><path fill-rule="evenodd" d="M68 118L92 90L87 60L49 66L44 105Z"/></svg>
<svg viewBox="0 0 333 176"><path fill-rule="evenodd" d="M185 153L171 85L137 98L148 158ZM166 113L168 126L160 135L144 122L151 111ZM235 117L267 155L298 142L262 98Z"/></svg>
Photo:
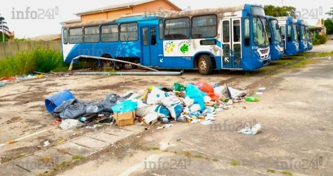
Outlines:
<svg viewBox="0 0 333 176"><path fill-rule="evenodd" d="M98 9L79 12L79 13L76 13L76 15L81 16L81 15L87 15L87 14L100 13L100 12L115 11L115 10L120 10L120 9L128 9L128 8L133 7L133 6L138 6L138 5L150 3L150 2L153 2L153 1L157 1L157 0L144 0L144 1L138 1L138 2L133 2L133 3L125 3L125 4L119 4L119 5L113 5L113 6L106 6L106 7L102 7L102 8L98 8ZM171 6L175 7L176 10L179 10L179 11L181 10L179 7L177 7L176 5L171 3L170 1L168 1L168 0L163 0L163 1L167 2Z"/></svg>

